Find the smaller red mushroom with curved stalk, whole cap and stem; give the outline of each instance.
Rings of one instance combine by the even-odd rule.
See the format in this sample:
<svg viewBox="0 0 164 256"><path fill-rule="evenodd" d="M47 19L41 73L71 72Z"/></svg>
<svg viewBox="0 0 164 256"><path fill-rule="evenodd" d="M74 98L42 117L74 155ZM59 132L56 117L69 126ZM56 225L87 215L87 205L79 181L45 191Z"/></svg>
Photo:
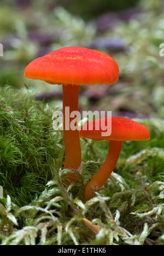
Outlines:
<svg viewBox="0 0 164 256"><path fill-rule="evenodd" d="M90 138L95 141L107 140L109 142L109 150L106 160L102 167L98 170L91 181L86 185L85 202L93 197L94 191L102 187L102 185L110 177L115 165L118 161L123 141L147 141L150 139L150 133L146 126L132 121L128 118L112 117L112 133L110 136L102 136L102 132L107 130L109 124L108 118L96 119L90 121L81 127L80 137ZM93 126L91 126L91 124ZM99 130L96 130L98 125ZM93 127L89 130L89 127Z"/></svg>

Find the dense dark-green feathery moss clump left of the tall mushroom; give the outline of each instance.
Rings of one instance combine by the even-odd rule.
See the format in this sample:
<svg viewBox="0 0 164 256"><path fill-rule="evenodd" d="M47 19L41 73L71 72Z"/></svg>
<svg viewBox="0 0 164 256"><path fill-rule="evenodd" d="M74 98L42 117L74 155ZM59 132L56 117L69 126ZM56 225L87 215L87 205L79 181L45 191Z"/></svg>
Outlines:
<svg viewBox="0 0 164 256"><path fill-rule="evenodd" d="M54 177L61 136L52 129L52 111L36 102L30 91L6 88L0 97L0 185L18 205Z"/></svg>

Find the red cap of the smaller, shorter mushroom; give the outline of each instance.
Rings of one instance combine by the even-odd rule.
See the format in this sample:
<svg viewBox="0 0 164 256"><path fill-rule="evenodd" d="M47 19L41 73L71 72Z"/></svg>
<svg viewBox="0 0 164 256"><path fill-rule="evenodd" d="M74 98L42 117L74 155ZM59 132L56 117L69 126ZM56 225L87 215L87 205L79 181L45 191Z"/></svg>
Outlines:
<svg viewBox="0 0 164 256"><path fill-rule="evenodd" d="M133 120L123 117L112 117L112 133L110 136L102 136L102 132L107 131L107 121L111 118L102 118L90 121L81 127L80 137L90 138L95 141L147 141L150 139L150 133L146 126L139 124ZM111 121L111 120L110 120ZM99 124L100 129L97 129ZM89 127L93 129L89 130Z"/></svg>

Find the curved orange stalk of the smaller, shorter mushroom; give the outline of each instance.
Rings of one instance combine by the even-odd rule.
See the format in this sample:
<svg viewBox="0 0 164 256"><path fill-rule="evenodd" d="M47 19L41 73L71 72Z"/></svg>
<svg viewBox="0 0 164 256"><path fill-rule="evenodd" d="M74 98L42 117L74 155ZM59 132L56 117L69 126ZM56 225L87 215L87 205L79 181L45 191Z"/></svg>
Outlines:
<svg viewBox="0 0 164 256"><path fill-rule="evenodd" d="M113 172L116 163L118 161L120 152L122 148L122 141L110 141L109 142L109 150L106 160L102 167L98 170L95 176L91 179L91 181L86 185L85 188L85 202L90 200L94 191L101 188L102 185L107 181L110 177L110 174Z"/></svg>

